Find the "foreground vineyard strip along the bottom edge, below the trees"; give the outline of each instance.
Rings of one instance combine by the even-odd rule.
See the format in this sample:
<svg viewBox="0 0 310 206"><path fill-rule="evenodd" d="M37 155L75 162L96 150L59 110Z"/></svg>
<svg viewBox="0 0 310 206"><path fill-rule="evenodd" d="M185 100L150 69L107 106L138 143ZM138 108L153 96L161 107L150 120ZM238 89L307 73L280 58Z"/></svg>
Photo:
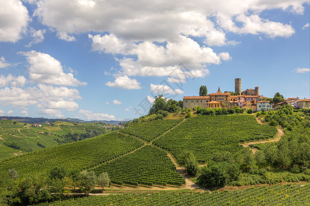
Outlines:
<svg viewBox="0 0 310 206"><path fill-rule="evenodd" d="M41 205L309 205L310 184L250 187L232 192L110 194Z"/></svg>

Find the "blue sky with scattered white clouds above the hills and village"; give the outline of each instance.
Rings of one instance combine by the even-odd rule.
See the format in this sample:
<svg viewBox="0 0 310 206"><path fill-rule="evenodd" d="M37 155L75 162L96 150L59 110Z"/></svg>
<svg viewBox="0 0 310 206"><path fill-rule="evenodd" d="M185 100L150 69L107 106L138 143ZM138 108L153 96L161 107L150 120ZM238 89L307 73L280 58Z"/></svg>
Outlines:
<svg viewBox="0 0 310 206"><path fill-rule="evenodd" d="M128 120L260 87L310 96L306 0L0 0L0 115Z"/></svg>

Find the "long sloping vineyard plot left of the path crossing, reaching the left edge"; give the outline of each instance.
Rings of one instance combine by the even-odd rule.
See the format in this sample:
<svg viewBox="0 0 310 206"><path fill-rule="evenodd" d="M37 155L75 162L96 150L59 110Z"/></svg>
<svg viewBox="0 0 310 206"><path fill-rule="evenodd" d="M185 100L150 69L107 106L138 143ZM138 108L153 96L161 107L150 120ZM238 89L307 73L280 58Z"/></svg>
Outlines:
<svg viewBox="0 0 310 206"><path fill-rule="evenodd" d="M7 174L9 169L14 168L21 176L43 176L54 165L63 165L68 170L84 170L131 152L142 145L142 142L134 137L108 133L84 141L1 159L0 174Z"/></svg>

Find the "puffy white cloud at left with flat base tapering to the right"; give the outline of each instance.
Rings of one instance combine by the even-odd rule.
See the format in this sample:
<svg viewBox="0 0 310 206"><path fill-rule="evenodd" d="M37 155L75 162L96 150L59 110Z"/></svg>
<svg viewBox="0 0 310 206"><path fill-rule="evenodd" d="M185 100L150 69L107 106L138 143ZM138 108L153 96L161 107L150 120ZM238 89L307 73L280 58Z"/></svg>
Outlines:
<svg viewBox="0 0 310 206"><path fill-rule="evenodd" d="M87 84L74 78L73 73L64 73L60 62L49 54L33 50L21 54L27 57L27 62L30 64L28 68L30 80L34 82L67 86Z"/></svg>

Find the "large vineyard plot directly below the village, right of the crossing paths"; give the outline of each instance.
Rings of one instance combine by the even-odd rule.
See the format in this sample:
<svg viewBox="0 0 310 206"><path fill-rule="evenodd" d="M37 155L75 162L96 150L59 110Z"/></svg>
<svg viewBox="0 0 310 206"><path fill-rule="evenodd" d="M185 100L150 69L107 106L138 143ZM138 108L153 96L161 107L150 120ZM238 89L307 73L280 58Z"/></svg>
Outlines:
<svg viewBox="0 0 310 206"><path fill-rule="evenodd" d="M184 150L192 150L197 161L205 163L214 152L236 152L239 142L269 139L274 126L262 125L251 115L200 116L187 119L154 144L171 152L180 162Z"/></svg>

